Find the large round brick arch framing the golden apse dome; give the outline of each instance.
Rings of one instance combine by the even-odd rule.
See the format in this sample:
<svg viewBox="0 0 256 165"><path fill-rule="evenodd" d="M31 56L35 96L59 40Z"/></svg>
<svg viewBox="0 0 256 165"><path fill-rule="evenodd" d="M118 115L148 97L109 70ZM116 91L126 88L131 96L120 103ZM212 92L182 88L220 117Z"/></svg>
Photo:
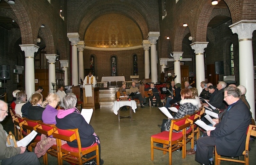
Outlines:
<svg viewBox="0 0 256 165"><path fill-rule="evenodd" d="M117 13L134 20L141 29L144 39L147 37L149 31L159 31L159 27L156 26L156 22L158 22L158 20L154 20L154 17L149 19L150 16L148 16L148 13L152 13L152 11L146 8L144 2L134 1L134 3L134 5L130 5L118 1L113 1L112 3L102 1L102 3L97 2L94 4L81 5L77 10L80 12L77 13L76 20L71 20L72 22L70 24L73 24L71 30L77 31L79 29L80 37L84 38L86 28L93 20L104 14ZM84 6L93 7L84 8ZM137 10L134 6L137 6L141 10ZM97 15L95 15L95 13L97 13Z"/></svg>

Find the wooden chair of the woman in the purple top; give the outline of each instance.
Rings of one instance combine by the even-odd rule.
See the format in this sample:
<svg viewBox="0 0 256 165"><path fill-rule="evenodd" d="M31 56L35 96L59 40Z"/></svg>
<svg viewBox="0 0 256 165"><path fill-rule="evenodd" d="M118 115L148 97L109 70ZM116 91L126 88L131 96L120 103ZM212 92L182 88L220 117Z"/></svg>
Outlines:
<svg viewBox="0 0 256 165"><path fill-rule="evenodd" d="M46 136L50 136L52 135L52 133L54 131L56 131L56 127L55 124L46 124L43 123L42 121L38 121L38 123L40 124L39 127L36 128L36 131L38 133L42 133ZM58 164L60 164L60 156L59 156L59 151L58 151L58 147L57 145L52 145L52 147L50 147L50 149L47 150L46 154L44 155L44 164L48 165L48 155L47 153L49 153L50 155L57 157L58 159Z"/></svg>

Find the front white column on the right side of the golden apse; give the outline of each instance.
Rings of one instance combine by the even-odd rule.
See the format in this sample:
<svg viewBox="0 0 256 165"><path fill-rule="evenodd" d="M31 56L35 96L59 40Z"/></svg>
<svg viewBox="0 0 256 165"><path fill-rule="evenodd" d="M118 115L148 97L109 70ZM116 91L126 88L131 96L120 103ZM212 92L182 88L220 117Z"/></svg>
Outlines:
<svg viewBox="0 0 256 165"><path fill-rule="evenodd" d="M150 42L151 55L151 82L158 82L157 80L157 59L156 59L156 41L160 36L160 32L149 32L148 41Z"/></svg>

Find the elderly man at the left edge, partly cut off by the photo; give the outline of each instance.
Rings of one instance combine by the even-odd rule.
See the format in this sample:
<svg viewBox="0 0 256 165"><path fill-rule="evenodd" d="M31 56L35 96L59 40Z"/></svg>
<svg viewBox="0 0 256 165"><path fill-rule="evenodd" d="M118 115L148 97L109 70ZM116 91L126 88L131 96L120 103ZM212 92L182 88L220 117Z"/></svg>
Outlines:
<svg viewBox="0 0 256 165"><path fill-rule="evenodd" d="M0 121L8 115L8 105L0 100ZM0 124L0 160L2 165L40 165L34 152L25 152L26 147L7 147L6 131Z"/></svg>

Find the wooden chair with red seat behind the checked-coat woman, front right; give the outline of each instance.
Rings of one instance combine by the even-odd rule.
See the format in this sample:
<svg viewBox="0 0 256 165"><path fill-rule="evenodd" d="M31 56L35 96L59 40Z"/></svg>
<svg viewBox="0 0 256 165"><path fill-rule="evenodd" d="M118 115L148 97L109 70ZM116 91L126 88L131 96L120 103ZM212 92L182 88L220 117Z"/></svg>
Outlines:
<svg viewBox="0 0 256 165"><path fill-rule="evenodd" d="M190 126L187 120L188 116L181 119L173 119L170 125L170 131L163 131L161 133L151 136L151 160L154 160L154 149L159 149L166 154L169 152L169 165L172 164L172 152L182 147L182 158L186 157L186 127ZM173 130L180 131L175 133ZM162 143L162 147L154 146L154 143Z"/></svg>

